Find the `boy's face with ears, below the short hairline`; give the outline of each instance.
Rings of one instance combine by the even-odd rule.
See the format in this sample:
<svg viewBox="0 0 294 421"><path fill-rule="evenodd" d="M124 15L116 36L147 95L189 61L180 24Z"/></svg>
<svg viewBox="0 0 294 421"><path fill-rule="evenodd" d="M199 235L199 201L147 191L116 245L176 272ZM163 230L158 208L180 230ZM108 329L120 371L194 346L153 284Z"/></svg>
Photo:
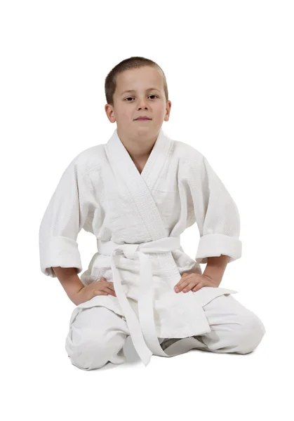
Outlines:
<svg viewBox="0 0 294 421"><path fill-rule="evenodd" d="M118 133L125 138L156 137L171 112L171 101L166 101L159 70L144 66L118 74L114 107L105 105L105 112L109 121L116 121ZM136 120L139 116L151 120Z"/></svg>

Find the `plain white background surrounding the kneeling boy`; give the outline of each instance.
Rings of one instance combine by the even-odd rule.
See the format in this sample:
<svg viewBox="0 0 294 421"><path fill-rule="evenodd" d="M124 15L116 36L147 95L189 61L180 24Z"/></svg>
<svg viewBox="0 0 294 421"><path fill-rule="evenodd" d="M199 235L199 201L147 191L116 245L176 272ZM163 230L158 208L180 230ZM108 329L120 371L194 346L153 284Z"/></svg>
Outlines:
<svg viewBox="0 0 294 421"><path fill-rule="evenodd" d="M293 1L2 1L1 414L4 420L293 420ZM107 142L104 83L157 62L163 130L204 154L241 217L243 254L221 286L267 332L251 354L192 350L149 366L79 370L74 304L39 269L38 233L69 162ZM196 255L196 225L181 236ZM96 251L79 234L83 270ZM205 265L201 265L204 270Z"/></svg>

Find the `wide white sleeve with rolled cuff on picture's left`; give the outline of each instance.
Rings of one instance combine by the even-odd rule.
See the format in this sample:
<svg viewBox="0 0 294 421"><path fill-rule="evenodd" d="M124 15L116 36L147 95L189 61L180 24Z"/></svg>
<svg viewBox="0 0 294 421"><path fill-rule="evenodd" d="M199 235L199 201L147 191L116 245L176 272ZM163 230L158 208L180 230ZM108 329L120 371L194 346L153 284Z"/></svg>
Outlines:
<svg viewBox="0 0 294 421"><path fill-rule="evenodd" d="M44 213L39 228L41 272L56 278L52 267L82 270L76 237L89 212L88 174L83 174L74 159L65 169Z"/></svg>

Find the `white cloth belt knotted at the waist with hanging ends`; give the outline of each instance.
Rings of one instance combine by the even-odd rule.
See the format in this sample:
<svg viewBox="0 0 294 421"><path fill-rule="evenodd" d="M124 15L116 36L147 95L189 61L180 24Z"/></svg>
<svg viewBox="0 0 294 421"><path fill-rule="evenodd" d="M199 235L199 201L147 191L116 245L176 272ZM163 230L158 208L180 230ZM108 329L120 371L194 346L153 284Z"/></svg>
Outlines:
<svg viewBox="0 0 294 421"><path fill-rule="evenodd" d="M147 366L153 354L159 356L170 356L166 354L159 344L154 323L153 297L152 297L152 264L149 256L145 253L168 253L180 248L180 236L166 237L163 239L149 241L140 244L117 244L113 241L97 240L98 252L102 255L110 256L110 265L113 274L113 283L116 297L119 300L121 309L126 318L128 329L135 350L140 359ZM140 285L138 299L138 321L137 315L128 302L123 287L121 285L121 275L114 265L114 254L116 250L121 250L126 258L133 259L138 253L140 259Z"/></svg>

